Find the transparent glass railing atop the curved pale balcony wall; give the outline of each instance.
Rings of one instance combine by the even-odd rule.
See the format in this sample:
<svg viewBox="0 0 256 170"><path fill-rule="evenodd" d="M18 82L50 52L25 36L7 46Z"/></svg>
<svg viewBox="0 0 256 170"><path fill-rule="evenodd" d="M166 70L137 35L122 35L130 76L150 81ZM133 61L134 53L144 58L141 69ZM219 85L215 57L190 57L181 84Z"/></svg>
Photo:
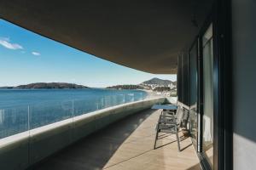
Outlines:
<svg viewBox="0 0 256 170"><path fill-rule="evenodd" d="M137 90L102 90L101 93L91 93L85 99L71 99L69 96L64 101L37 101L30 105L0 108L0 139L73 116L152 97Z"/></svg>

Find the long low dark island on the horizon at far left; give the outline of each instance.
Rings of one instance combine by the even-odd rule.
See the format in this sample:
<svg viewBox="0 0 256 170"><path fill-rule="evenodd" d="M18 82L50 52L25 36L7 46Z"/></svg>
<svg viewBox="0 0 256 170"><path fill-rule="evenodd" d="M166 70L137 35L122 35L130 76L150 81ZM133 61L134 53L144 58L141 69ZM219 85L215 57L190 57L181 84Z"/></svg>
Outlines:
<svg viewBox="0 0 256 170"><path fill-rule="evenodd" d="M88 88L83 85L67 83L67 82L36 82L26 85L20 85L17 87L2 87L2 88L18 88L18 89L29 89L29 88Z"/></svg>

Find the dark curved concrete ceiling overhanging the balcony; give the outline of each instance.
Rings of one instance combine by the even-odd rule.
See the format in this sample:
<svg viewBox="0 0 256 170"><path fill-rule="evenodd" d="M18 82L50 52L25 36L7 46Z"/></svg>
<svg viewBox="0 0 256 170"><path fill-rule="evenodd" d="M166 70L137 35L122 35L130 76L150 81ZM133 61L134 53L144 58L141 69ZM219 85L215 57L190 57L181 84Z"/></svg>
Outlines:
<svg viewBox="0 0 256 170"><path fill-rule="evenodd" d="M177 54L195 38L211 2L0 0L0 14L18 26L119 65L171 74L177 71Z"/></svg>

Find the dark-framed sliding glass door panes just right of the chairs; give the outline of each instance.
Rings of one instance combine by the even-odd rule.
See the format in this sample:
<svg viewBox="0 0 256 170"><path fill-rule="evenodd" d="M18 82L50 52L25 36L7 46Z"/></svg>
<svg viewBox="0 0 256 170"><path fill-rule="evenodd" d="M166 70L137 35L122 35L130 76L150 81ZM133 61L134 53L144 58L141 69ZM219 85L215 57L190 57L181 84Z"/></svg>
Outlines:
<svg viewBox="0 0 256 170"><path fill-rule="evenodd" d="M189 49L189 91L186 91L189 93L189 132L203 167L206 169L213 169L213 91L215 88L213 88L214 40L212 34L212 24L209 24ZM181 66L185 70L186 65ZM186 100L183 99L182 102L184 101Z"/></svg>

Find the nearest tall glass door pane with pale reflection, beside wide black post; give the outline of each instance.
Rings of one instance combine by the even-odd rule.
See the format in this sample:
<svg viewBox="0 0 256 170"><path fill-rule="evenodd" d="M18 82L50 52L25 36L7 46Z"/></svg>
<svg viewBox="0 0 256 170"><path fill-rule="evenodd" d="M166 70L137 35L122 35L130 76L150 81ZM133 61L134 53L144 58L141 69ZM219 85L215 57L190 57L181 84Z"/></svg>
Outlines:
<svg viewBox="0 0 256 170"><path fill-rule="evenodd" d="M213 167L213 50L212 25L202 37L203 47L203 120L202 150Z"/></svg>

